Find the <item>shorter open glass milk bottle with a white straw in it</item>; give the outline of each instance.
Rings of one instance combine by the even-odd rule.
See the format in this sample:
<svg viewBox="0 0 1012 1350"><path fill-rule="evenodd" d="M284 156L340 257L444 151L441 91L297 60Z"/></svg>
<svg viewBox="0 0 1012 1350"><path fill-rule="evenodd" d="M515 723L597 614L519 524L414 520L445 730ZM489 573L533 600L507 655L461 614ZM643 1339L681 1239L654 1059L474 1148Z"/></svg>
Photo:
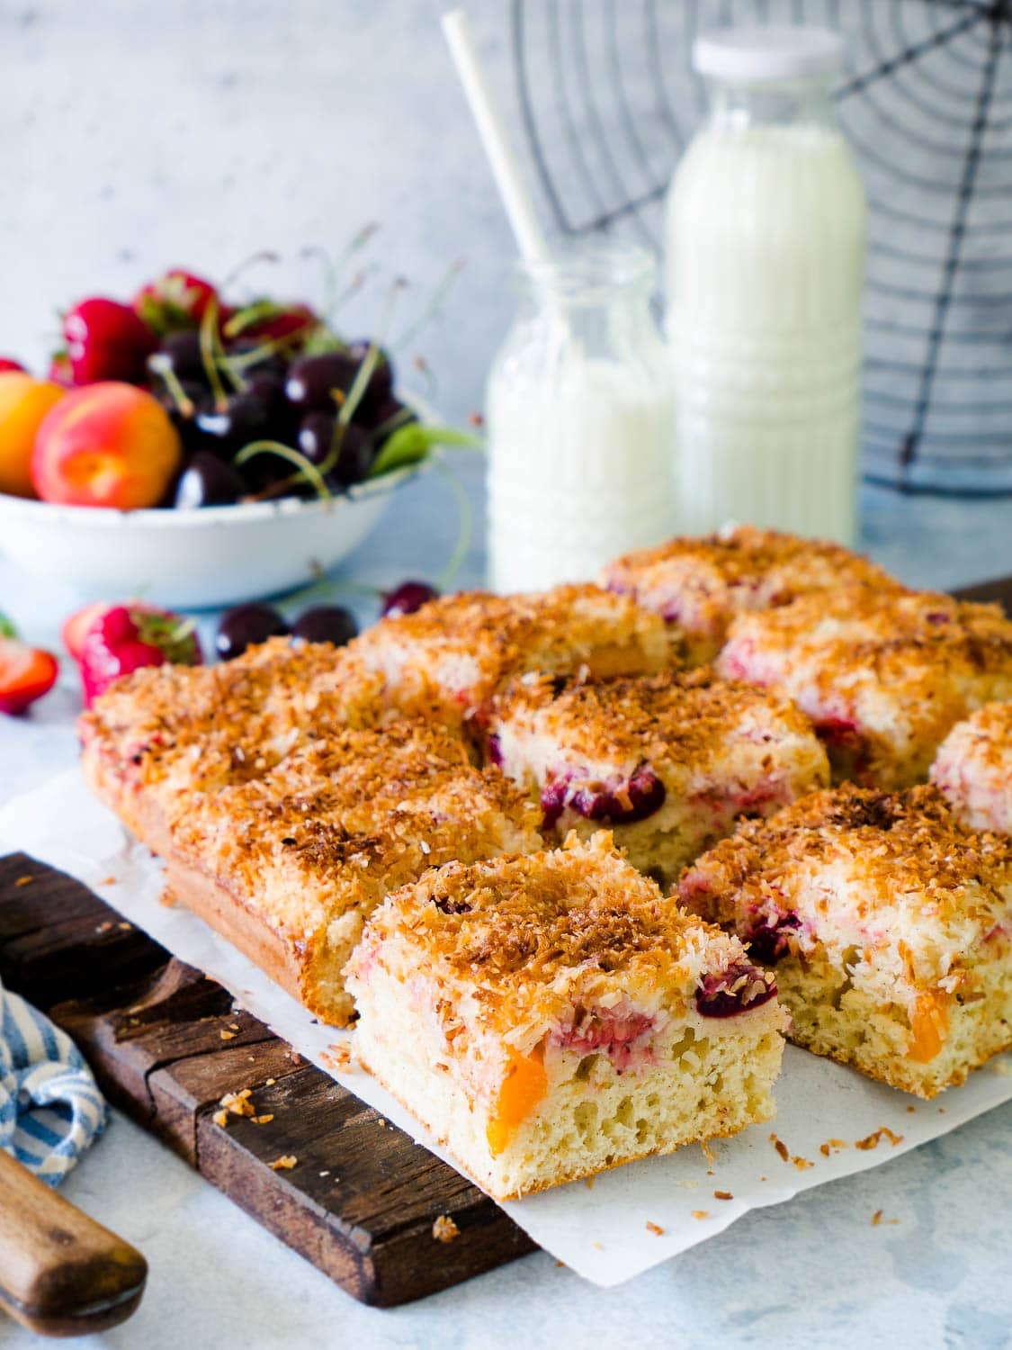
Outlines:
<svg viewBox="0 0 1012 1350"><path fill-rule="evenodd" d="M488 585L594 579L672 533L671 363L650 256L590 248L519 266L488 375Z"/></svg>

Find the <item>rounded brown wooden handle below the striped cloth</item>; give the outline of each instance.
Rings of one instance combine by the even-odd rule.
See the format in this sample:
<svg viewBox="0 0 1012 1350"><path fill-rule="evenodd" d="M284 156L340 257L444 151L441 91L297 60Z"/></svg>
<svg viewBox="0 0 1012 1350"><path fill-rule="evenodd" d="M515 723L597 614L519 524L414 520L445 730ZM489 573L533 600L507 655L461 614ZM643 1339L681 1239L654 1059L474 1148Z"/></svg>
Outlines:
<svg viewBox="0 0 1012 1350"><path fill-rule="evenodd" d="M50 1336L115 1327L140 1303L147 1262L0 1149L0 1308Z"/></svg>

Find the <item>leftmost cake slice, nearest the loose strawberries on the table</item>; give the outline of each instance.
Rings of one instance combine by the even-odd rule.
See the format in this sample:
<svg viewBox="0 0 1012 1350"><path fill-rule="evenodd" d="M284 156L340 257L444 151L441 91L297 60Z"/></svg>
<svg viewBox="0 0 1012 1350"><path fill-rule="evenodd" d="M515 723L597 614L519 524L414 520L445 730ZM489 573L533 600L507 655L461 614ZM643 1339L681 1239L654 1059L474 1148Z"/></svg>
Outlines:
<svg viewBox="0 0 1012 1350"><path fill-rule="evenodd" d="M78 718L92 790L161 853L192 792L262 776L296 747L379 720L382 680L347 649L271 639L217 666L158 666L117 680Z"/></svg>

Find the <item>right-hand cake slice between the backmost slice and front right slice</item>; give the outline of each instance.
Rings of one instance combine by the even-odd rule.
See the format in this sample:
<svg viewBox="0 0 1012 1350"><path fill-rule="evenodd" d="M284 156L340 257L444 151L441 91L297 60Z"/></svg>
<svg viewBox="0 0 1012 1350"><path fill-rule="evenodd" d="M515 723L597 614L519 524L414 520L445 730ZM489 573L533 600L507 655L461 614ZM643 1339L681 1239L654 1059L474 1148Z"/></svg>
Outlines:
<svg viewBox="0 0 1012 1350"><path fill-rule="evenodd" d="M792 698L837 780L909 787L955 722L1012 698L1012 622L997 605L854 586L741 614L716 670Z"/></svg>

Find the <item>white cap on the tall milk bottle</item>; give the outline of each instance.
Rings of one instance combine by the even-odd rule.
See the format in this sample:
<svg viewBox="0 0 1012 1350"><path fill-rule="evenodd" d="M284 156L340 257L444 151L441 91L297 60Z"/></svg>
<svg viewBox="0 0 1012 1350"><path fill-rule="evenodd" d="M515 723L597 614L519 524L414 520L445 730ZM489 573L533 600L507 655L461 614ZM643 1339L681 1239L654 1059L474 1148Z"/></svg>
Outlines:
<svg viewBox="0 0 1012 1350"><path fill-rule="evenodd" d="M843 65L843 39L800 24L715 28L692 43L692 65L700 76L745 84L831 76Z"/></svg>

